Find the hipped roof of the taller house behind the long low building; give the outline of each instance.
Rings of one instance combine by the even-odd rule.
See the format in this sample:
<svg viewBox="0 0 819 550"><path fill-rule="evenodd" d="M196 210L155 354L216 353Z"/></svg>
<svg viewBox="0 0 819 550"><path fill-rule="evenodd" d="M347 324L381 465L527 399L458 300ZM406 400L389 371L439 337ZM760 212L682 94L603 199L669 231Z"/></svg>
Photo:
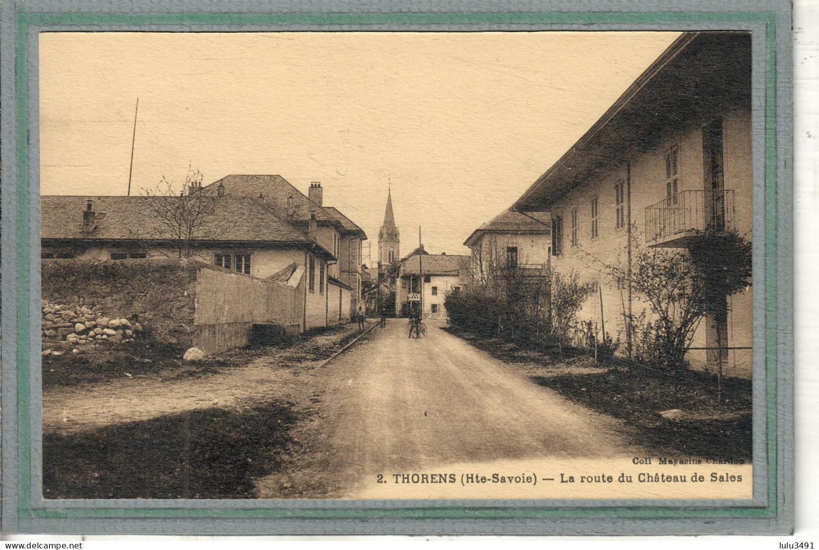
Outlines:
<svg viewBox="0 0 819 550"><path fill-rule="evenodd" d="M208 189L208 192L215 194L214 189L219 184L224 185L226 196L249 197L264 202L265 206L271 208L283 220L304 222L310 220L310 214L314 212L319 223L330 223L342 228L342 223L336 216L306 198L304 193L278 174L231 174L202 189ZM293 198L292 212L287 211L287 198L290 197Z"/></svg>

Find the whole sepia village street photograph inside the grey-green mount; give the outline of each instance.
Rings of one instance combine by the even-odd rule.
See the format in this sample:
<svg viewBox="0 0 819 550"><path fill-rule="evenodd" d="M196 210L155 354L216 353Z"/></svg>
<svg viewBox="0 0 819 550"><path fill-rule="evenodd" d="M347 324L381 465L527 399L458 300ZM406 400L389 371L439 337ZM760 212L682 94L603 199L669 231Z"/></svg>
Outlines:
<svg viewBox="0 0 819 550"><path fill-rule="evenodd" d="M756 496L750 32L37 56L43 499Z"/></svg>

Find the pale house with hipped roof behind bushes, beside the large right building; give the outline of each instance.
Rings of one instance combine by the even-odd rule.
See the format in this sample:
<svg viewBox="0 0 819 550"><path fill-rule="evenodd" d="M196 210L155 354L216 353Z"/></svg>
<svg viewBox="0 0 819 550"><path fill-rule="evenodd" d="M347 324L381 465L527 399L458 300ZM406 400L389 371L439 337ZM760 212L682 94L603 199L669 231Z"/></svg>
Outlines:
<svg viewBox="0 0 819 550"><path fill-rule="evenodd" d="M472 251L473 274L492 262L541 275L551 258L551 218L545 212L502 211L464 242Z"/></svg>

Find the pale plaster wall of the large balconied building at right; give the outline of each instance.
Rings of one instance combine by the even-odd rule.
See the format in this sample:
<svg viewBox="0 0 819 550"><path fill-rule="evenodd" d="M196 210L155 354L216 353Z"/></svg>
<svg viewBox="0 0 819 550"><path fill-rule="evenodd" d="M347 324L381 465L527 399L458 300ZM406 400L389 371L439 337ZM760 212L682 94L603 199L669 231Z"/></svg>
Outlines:
<svg viewBox="0 0 819 550"><path fill-rule="evenodd" d="M705 121L707 122L707 121ZM704 124L704 123L703 123ZM661 135L658 146L628 159L631 162L631 222L636 228L639 246L645 247L645 208L666 196L664 154L672 145L678 145L678 191L703 190L703 131L698 123L692 123L681 132ZM723 157L725 189L732 189L735 198L735 227L745 239L751 239L751 127L747 110L727 111L723 115ZM615 191L618 180L627 180L627 162L613 162L604 166L576 189L551 207L552 216L563 216L563 253L552 257L552 266L561 272L577 271L583 280L601 284L603 291L603 316L600 315L600 293L590 298L581 310L581 320L593 320L605 324L605 330L622 342L625 350L626 324L624 312L628 311L627 289L618 289L616 281L604 274L604 264L627 265L628 236L625 228L615 227ZM598 198L599 237L591 239L590 202ZM628 198L627 198L628 200ZM578 243L571 244L571 211L577 208ZM749 347L752 338L751 316L752 291L747 289L729 298L728 346ZM631 311L649 312L649 306L633 294ZM706 322L699 325L693 347L707 347ZM692 366L706 365L706 352L691 351L687 359ZM727 361L729 375L749 376L751 351L731 350Z"/></svg>

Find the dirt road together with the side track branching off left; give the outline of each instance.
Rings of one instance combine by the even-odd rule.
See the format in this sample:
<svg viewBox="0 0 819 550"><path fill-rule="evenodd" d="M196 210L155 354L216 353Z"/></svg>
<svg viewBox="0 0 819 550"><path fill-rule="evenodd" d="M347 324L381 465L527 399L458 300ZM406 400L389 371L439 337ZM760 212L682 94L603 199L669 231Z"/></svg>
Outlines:
<svg viewBox="0 0 819 550"><path fill-rule="evenodd" d="M43 432L49 440L57 438L55 445L86 441L82 444L94 448L97 441L128 445L133 433L147 437L152 429L146 426L169 421L183 432L170 434L173 443L187 438L197 423L205 436L190 437L206 438L205 455L217 447L242 448L260 469L246 473L247 490L258 498L349 498L366 491L379 473L531 458L610 459L636 452L618 420L534 384L518 366L448 333L443 321L426 323L426 337L408 339L405 320L387 320L386 329L375 327L327 364L283 366L269 348L246 366L194 378L122 379L47 391ZM249 433L242 433L241 422L220 432L224 420L211 420L225 414L242 419L255 410L263 412L254 413L256 428ZM287 418L296 420L281 431L279 418L285 416L264 411L289 411ZM281 428L265 431L268 425ZM283 449L265 438L290 443ZM145 455L138 460L152 464L152 453L162 452L165 443L145 443L138 446ZM109 462L120 464L111 452L120 450L102 452L95 468L108 471ZM187 457L177 460L188 464ZM206 481L210 466L202 466L190 475ZM109 473L115 495L125 474Z"/></svg>

